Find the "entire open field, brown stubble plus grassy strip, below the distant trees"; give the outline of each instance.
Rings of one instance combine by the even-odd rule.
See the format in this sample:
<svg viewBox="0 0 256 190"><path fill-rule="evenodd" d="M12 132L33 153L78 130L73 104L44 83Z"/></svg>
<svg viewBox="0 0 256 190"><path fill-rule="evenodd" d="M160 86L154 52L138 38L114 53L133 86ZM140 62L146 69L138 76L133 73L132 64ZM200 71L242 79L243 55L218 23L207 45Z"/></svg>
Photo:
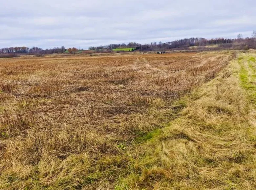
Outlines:
<svg viewBox="0 0 256 190"><path fill-rule="evenodd" d="M255 189L255 54L0 59L0 189Z"/></svg>

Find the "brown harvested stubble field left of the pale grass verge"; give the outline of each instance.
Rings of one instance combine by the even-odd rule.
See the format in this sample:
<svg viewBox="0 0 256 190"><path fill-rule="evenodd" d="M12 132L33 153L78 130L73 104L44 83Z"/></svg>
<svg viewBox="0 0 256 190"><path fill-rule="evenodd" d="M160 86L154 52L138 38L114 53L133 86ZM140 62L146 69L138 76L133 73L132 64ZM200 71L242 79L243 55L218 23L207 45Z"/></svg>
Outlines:
<svg viewBox="0 0 256 190"><path fill-rule="evenodd" d="M0 189L113 189L136 167L137 145L178 117L174 102L231 59L0 59Z"/></svg>

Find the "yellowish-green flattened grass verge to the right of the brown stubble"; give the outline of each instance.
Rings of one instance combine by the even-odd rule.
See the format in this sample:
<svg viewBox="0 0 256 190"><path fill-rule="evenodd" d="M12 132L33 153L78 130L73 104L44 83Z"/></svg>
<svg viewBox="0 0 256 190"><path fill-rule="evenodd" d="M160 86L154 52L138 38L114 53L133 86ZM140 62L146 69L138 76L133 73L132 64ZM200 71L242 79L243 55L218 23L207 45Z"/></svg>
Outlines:
<svg viewBox="0 0 256 190"><path fill-rule="evenodd" d="M116 189L256 189L254 57L183 98L181 116L145 136Z"/></svg>

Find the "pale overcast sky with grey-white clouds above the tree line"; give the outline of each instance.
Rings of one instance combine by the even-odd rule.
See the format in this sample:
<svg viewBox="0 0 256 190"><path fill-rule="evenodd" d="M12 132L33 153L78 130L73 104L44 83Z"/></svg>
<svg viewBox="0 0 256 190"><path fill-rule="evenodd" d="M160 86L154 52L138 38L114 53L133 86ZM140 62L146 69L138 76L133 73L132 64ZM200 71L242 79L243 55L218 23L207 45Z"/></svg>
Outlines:
<svg viewBox="0 0 256 190"><path fill-rule="evenodd" d="M0 0L0 47L250 37L256 0Z"/></svg>

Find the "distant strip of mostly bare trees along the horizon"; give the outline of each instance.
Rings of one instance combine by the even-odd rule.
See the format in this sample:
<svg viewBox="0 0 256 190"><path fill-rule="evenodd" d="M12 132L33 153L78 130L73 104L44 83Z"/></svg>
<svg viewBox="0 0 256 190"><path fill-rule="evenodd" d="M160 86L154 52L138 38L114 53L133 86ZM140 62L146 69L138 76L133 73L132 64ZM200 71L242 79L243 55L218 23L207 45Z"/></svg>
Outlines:
<svg viewBox="0 0 256 190"><path fill-rule="evenodd" d="M205 48L207 47L207 48ZM255 49L256 48L256 30L252 32L251 37L243 38L242 34L238 34L237 38L184 38L172 42L151 42L150 44L139 44L129 42L127 44L109 44L106 46L91 46L87 52L84 49L76 47L65 48L54 47L50 49L42 49L40 47L4 47L0 48L0 54L60 54L60 53L97 53L97 52L113 52L115 49L128 49L127 51L165 51L165 50L223 50L223 49ZM16 55L17 56L17 55ZM1 57L1 56L0 56ZM8 57L8 56L7 56ZM15 57L15 55L13 55Z"/></svg>

